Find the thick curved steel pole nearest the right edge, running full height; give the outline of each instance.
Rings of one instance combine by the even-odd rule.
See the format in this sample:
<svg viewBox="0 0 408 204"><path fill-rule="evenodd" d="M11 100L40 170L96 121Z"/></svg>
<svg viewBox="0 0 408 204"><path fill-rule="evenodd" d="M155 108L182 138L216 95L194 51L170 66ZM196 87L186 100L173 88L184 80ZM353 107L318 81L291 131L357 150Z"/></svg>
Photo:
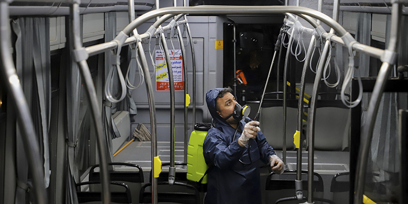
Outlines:
<svg viewBox="0 0 408 204"><path fill-rule="evenodd" d="M374 131L375 119L378 113L379 103L387 84L388 75L391 71L391 65L394 64L396 58L396 47L398 40L398 27L401 19L402 1L392 1L391 12L391 35L385 55L381 58L382 65L378 72L377 81L375 81L374 89L370 98L370 104L367 111L367 120L363 128L362 143L360 145L359 160L357 162L357 172L354 184L354 203L361 203L363 200L365 173L367 169L367 158L370 149L370 144Z"/></svg>

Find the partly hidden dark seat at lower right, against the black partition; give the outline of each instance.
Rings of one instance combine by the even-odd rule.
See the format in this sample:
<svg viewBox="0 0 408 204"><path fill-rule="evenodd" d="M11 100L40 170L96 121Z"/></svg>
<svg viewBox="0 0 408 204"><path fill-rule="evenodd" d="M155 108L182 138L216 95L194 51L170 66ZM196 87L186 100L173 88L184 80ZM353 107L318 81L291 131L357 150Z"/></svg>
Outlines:
<svg viewBox="0 0 408 204"><path fill-rule="evenodd" d="M337 173L331 179L330 198L334 203L348 203L350 192L350 172Z"/></svg>

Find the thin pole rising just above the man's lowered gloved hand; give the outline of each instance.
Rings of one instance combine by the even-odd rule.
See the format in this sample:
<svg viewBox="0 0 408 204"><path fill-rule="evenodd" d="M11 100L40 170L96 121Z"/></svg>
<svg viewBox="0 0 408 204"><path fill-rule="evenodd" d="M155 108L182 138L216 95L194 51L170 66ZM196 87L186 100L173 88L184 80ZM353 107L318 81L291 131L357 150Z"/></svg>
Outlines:
<svg viewBox="0 0 408 204"><path fill-rule="evenodd" d="M284 101L283 101L283 108L284 108L284 125L283 125L283 150L282 150L282 160L286 165L286 81L288 81L288 63L289 63L289 55L290 49L293 43L293 34L295 33L295 29L292 29L292 33L289 38L288 50L286 50L286 59L285 59L285 68L284 68L284 86L283 86L283 93L284 93ZM295 86L292 84L292 86Z"/></svg>

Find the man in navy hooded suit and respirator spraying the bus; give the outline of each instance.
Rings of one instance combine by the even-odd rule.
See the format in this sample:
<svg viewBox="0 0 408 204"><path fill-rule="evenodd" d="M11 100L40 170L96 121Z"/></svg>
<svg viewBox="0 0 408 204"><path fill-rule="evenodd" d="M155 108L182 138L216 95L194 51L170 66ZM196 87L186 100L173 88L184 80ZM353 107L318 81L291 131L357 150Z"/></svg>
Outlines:
<svg viewBox="0 0 408 204"><path fill-rule="evenodd" d="M233 117L238 103L231 88L209 90L206 101L215 127L203 143L203 155L211 168L205 203L261 203L257 161L270 162L278 174L283 172L284 163L256 126L258 121L246 123L242 116Z"/></svg>

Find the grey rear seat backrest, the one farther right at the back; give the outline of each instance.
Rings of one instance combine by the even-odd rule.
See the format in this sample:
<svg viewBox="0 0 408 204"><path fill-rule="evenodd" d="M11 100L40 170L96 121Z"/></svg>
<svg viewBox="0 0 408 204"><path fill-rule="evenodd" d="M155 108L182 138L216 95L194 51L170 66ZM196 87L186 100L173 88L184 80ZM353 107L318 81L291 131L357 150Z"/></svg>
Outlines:
<svg viewBox="0 0 408 204"><path fill-rule="evenodd" d="M348 146L350 110L338 107L316 109L315 149L341 151Z"/></svg>

